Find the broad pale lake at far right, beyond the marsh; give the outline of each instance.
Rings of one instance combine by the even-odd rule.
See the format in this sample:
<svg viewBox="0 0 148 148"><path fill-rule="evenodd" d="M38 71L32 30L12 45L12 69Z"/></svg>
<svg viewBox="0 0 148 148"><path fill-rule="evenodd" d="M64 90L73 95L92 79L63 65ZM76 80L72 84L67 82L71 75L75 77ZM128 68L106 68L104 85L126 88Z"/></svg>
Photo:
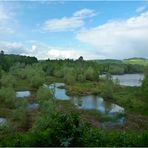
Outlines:
<svg viewBox="0 0 148 148"><path fill-rule="evenodd" d="M101 75L104 77L105 75ZM119 80L119 84L123 86L141 86L144 74L123 74L123 75L112 75L114 82Z"/></svg>

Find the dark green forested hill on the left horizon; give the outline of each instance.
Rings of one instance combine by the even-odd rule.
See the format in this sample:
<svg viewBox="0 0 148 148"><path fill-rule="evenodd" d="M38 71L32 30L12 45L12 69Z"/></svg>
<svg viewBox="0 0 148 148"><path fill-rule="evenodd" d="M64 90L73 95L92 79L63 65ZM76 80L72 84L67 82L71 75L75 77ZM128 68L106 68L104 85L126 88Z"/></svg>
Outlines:
<svg viewBox="0 0 148 148"><path fill-rule="evenodd" d="M26 65L33 64L36 62L38 62L36 57L4 54L2 51L0 53L0 67L5 71L8 71L9 68L15 63L23 63Z"/></svg>

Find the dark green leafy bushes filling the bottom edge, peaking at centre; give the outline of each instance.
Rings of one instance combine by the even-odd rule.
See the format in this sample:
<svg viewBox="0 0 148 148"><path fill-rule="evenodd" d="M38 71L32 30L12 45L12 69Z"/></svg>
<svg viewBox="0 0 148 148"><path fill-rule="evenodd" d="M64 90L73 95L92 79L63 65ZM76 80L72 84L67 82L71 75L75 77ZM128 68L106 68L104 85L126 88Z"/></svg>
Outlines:
<svg viewBox="0 0 148 148"><path fill-rule="evenodd" d="M18 133L1 139L0 146L142 147L148 146L148 132L105 131L81 122L75 113L51 115L42 130Z"/></svg>

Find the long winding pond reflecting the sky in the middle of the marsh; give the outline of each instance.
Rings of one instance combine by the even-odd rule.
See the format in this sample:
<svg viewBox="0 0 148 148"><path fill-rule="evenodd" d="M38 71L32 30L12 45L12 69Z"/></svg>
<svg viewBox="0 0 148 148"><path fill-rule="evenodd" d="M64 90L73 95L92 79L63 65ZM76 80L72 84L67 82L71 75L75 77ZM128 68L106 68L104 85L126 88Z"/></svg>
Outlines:
<svg viewBox="0 0 148 148"><path fill-rule="evenodd" d="M80 109L97 110L102 115L107 115L110 117L116 116L117 114L120 114L120 113L124 114L124 108L120 107L117 104L104 101L104 99L99 96L94 96L94 95L68 96L66 95L66 90L63 88L60 88L63 86L65 86L64 83L54 83L49 86L49 89L52 90L55 96L55 99L69 100ZM124 124L123 120L125 121L125 118L122 116L122 119L118 118L117 120L118 122L114 122L114 123L122 125Z"/></svg>

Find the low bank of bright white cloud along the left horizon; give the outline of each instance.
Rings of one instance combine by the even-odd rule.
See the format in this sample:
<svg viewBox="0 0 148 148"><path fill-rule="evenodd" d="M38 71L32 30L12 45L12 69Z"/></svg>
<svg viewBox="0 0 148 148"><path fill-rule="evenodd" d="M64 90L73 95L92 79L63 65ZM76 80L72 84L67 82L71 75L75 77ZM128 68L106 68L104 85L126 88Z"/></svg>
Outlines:
<svg viewBox="0 0 148 148"><path fill-rule="evenodd" d="M81 48L49 46L45 43L28 40L24 42L0 41L0 50L6 54L20 54L35 56L38 59L78 59L83 56L84 59L97 59L95 52L85 51Z"/></svg>

